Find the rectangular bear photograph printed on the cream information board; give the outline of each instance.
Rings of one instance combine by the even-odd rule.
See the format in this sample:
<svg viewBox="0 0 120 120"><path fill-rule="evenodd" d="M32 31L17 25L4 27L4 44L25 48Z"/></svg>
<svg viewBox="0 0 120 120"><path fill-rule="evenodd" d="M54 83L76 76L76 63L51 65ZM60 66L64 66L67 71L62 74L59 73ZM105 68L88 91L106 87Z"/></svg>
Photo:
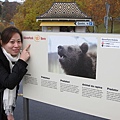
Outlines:
<svg viewBox="0 0 120 120"><path fill-rule="evenodd" d="M48 72L96 79L97 38L49 36Z"/></svg>

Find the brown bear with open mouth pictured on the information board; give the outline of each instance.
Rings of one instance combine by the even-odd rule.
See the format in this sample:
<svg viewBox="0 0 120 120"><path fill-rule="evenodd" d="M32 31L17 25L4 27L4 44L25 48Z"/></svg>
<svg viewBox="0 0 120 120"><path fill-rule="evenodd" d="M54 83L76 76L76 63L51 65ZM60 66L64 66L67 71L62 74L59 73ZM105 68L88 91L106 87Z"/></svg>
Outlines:
<svg viewBox="0 0 120 120"><path fill-rule="evenodd" d="M58 46L59 62L67 75L96 79L96 53L87 43Z"/></svg>

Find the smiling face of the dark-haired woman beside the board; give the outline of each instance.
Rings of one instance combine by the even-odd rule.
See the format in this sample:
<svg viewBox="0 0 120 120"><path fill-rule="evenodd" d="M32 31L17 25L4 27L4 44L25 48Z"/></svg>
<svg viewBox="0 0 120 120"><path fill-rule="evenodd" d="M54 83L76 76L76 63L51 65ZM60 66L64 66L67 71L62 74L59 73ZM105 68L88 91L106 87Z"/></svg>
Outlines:
<svg viewBox="0 0 120 120"><path fill-rule="evenodd" d="M22 47L20 35L18 33L15 33L7 44L2 44L2 47L9 54L11 54L11 56L17 56L20 53L20 49Z"/></svg>

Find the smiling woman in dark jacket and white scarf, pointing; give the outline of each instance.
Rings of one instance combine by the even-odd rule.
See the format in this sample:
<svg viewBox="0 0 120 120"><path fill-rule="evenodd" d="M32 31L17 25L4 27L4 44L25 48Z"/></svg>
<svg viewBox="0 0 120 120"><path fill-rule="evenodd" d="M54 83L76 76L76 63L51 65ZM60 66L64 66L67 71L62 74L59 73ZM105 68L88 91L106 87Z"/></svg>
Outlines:
<svg viewBox="0 0 120 120"><path fill-rule="evenodd" d="M30 58L28 45L21 51L21 32L10 26L3 30L0 40L0 120L14 120L16 94L20 81L27 72Z"/></svg>

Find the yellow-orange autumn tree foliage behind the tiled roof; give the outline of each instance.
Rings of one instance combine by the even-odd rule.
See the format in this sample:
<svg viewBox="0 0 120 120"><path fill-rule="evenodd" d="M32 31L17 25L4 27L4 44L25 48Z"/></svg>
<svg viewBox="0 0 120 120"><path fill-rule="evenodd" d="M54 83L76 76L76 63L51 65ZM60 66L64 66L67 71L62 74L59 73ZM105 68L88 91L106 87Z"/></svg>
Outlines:
<svg viewBox="0 0 120 120"><path fill-rule="evenodd" d="M8 18L7 20L14 21L21 30L38 30L40 21L36 22L36 17L49 10L53 2L76 2L82 12L92 17L97 28L104 24L106 2L110 5L109 21L111 21L111 25L116 18L120 17L120 0L26 0L17 7L17 13L4 13L3 15ZM8 11L10 11L9 7Z"/></svg>

